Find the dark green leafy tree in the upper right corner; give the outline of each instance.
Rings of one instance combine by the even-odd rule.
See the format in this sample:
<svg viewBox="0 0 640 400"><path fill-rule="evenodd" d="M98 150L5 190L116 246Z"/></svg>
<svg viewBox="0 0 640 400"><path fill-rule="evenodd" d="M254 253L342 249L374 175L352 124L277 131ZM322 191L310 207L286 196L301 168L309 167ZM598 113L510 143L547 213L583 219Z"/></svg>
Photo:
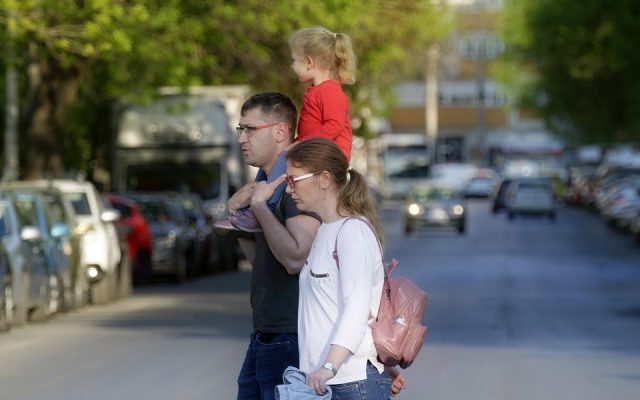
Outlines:
<svg viewBox="0 0 640 400"><path fill-rule="evenodd" d="M636 0L511 0L503 82L570 140L638 140L638 15Z"/></svg>

